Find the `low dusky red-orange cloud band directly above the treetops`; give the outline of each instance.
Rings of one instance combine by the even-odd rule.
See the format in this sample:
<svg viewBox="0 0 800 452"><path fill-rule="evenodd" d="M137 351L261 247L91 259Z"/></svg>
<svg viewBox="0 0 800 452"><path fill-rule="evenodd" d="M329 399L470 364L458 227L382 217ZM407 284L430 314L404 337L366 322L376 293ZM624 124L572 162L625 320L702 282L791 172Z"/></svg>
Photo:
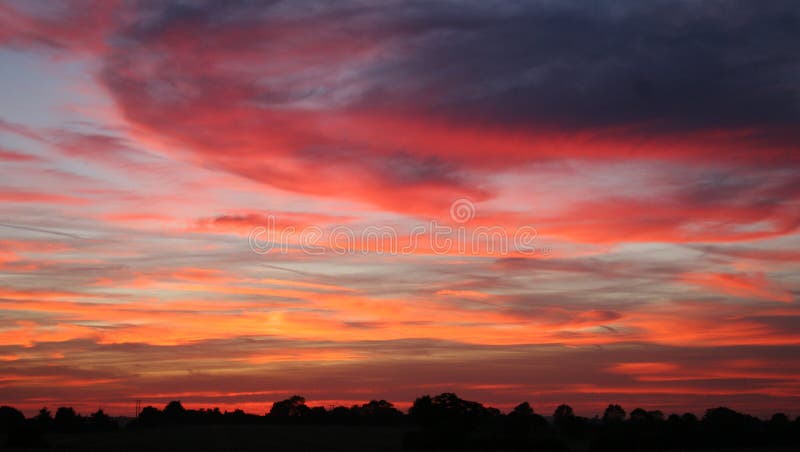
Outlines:
<svg viewBox="0 0 800 452"><path fill-rule="evenodd" d="M46 365L54 351L70 357L70 364ZM305 357L320 351L369 359L330 361L326 354L322 356L326 364L308 372ZM698 413L715 402L725 402L735 409L756 408L754 412L760 414L754 403L759 398L778 404L771 407L775 409L791 407L798 398L793 379L796 366L778 365L797 353L790 346L497 348L447 341L334 344L251 338L176 346L42 342L29 348L4 346L2 353L15 353L19 359L9 363L13 385L9 386L11 380L0 382L0 394L8 399L9 391L16 391L13 400L28 411L40 408L43 398L73 400L79 410L94 410L100 404L121 411L136 399L162 405L180 397L190 407L232 408L247 403L246 408L261 412L293 391L303 391L312 403L381 397L408 407L421 393L449 389L472 399L491 399L505 410L527 399L544 414L569 397L582 415L601 411L607 399L623 403L626 409L688 408ZM253 353L265 357L296 353L301 359L294 363L243 361ZM97 365L98 356L115 356L125 365ZM476 368L481 372L474 372ZM56 376L67 384L53 385ZM691 400L689 405L687 400Z"/></svg>

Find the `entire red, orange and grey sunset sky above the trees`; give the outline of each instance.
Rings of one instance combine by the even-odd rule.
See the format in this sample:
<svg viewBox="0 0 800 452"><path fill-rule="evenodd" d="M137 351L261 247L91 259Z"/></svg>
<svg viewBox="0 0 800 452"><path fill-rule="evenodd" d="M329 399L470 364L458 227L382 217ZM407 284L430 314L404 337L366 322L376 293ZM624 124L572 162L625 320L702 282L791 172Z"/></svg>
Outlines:
<svg viewBox="0 0 800 452"><path fill-rule="evenodd" d="M0 403L800 415L798 70L789 1L0 0Z"/></svg>

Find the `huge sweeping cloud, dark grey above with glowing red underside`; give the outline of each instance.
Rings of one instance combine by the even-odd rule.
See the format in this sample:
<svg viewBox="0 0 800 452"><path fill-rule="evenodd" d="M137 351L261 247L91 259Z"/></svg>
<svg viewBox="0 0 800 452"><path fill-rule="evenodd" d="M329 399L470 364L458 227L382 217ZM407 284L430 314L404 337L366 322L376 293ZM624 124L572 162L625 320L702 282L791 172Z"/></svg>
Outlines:
<svg viewBox="0 0 800 452"><path fill-rule="evenodd" d="M485 199L482 168L542 158L796 154L787 6L297 8L153 7L114 33L101 80L131 122L221 169L401 211Z"/></svg>

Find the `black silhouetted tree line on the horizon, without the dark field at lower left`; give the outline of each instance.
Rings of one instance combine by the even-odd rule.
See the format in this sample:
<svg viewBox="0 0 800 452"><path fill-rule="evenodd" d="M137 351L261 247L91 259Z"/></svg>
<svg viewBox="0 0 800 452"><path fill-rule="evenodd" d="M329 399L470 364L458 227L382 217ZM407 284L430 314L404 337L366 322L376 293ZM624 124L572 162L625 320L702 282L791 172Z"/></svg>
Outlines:
<svg viewBox="0 0 800 452"><path fill-rule="evenodd" d="M264 415L242 410L186 409L179 401L163 409L146 406L133 418L112 418L99 409L87 416L70 407L53 414L42 408L31 418L0 407L0 433L10 446L44 446L50 433L98 433L119 429L175 428L181 425L363 425L398 426L407 431L408 449L568 450L579 441L593 450L692 449L800 445L800 417L776 413L768 420L730 408L670 414L636 408L627 413L609 405L602 416L576 415L569 405L545 417L528 402L508 413L464 400L453 393L417 398L408 413L385 400L327 409L308 406L301 396L272 404Z"/></svg>

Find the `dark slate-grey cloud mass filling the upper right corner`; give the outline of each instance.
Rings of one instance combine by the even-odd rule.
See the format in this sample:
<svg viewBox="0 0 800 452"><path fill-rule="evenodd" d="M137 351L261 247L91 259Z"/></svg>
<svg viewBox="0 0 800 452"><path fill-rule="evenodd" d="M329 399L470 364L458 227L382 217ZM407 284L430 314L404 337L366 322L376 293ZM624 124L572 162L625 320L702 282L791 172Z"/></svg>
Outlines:
<svg viewBox="0 0 800 452"><path fill-rule="evenodd" d="M521 2L428 30L370 102L489 122L696 129L800 119L794 2ZM459 15L435 11L458 23ZM443 23L447 19L442 18Z"/></svg>

